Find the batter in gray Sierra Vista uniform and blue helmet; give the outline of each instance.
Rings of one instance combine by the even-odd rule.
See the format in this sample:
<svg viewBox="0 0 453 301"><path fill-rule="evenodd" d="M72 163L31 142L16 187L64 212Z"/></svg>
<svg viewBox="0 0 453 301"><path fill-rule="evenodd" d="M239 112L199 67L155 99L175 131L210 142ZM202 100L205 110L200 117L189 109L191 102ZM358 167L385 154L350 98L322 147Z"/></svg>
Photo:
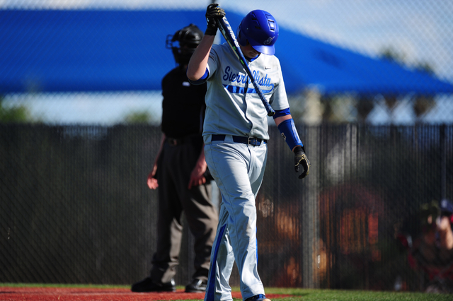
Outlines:
<svg viewBox="0 0 453 301"><path fill-rule="evenodd" d="M268 301L257 271L255 199L268 155L266 110L233 50L213 45L218 18L207 6L207 29L188 65L192 83L207 82L203 139L206 162L222 194L219 225L211 252L205 301L232 300L229 277L236 261L246 301ZM294 152L295 171L309 174L309 160L289 112L280 61L275 53L278 25L267 11L251 11L237 29L237 40L256 82L275 110L274 121Z"/></svg>

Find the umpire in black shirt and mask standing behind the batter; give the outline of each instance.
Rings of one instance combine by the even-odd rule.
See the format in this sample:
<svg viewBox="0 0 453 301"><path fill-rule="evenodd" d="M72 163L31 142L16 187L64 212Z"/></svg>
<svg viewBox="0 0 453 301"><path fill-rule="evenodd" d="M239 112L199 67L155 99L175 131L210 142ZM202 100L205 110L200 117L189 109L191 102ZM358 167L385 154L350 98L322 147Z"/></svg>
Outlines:
<svg viewBox="0 0 453 301"><path fill-rule="evenodd" d="M195 237L195 273L185 292L206 290L218 222L218 213L211 202L211 184L201 136L206 84L192 85L186 76L189 59L202 36L202 31L193 24L167 36L166 47L172 50L178 66L162 80L163 134L148 176L149 188L159 187L157 249L149 277L134 283L133 292L176 290L173 278L183 234L183 211Z"/></svg>

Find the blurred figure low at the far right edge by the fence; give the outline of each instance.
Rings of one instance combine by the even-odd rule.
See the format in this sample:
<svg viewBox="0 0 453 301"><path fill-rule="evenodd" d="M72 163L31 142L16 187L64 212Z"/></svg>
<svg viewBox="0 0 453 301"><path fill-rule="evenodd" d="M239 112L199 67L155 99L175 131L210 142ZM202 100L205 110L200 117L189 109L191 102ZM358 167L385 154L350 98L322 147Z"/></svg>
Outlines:
<svg viewBox="0 0 453 301"><path fill-rule="evenodd" d="M427 293L453 293L453 204L447 199L420 208L421 235L413 242L409 262L427 276Z"/></svg>

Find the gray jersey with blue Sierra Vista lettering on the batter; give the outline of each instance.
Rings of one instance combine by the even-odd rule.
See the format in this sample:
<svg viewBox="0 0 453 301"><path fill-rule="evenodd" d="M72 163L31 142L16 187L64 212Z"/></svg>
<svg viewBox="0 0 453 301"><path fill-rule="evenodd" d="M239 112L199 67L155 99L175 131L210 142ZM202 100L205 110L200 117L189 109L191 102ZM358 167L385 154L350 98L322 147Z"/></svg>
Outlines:
<svg viewBox="0 0 453 301"><path fill-rule="evenodd" d="M277 57L260 54L248 62L248 66L273 109L289 107ZM268 140L268 118L263 102L226 43L212 45L207 69L205 143L209 142L211 134L255 136Z"/></svg>

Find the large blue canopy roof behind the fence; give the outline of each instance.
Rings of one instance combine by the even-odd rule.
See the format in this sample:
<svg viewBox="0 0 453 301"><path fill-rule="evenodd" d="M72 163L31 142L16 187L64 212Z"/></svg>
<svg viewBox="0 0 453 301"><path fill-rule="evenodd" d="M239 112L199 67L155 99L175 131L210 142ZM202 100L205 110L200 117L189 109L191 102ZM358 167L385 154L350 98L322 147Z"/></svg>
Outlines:
<svg viewBox="0 0 453 301"><path fill-rule="evenodd" d="M175 66L166 35L204 11L0 11L0 94L160 90ZM242 16L229 13L236 28ZM223 41L223 39L222 39ZM281 27L276 45L289 94L453 93L452 83Z"/></svg>

